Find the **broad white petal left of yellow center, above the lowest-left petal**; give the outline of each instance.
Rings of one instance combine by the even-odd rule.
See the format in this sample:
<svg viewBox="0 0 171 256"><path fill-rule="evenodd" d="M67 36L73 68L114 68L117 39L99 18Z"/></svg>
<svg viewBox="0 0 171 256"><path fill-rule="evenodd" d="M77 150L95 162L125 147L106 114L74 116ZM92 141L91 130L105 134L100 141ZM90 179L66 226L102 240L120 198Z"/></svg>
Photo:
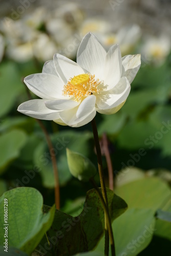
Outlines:
<svg viewBox="0 0 171 256"><path fill-rule="evenodd" d="M46 73L29 75L24 79L27 87L42 99L63 98L63 83L59 77Z"/></svg>

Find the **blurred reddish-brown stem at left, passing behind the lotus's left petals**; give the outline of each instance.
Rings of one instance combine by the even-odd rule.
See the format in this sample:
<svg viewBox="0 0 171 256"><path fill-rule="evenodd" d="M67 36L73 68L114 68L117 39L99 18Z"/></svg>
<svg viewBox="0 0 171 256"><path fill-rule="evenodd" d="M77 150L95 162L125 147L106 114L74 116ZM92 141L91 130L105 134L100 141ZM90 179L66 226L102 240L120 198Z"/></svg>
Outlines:
<svg viewBox="0 0 171 256"><path fill-rule="evenodd" d="M32 99L30 91L27 87L26 87L26 91L27 91L28 98ZM54 180L55 180L55 205L56 205L56 209L59 210L59 208L60 208L59 177L58 177L58 169L57 169L55 154L53 154L54 148L53 148L52 141L50 139L50 136L48 134L48 131L47 131L45 125L41 122L41 120L39 120L37 118L35 118L35 119L38 122L38 124L40 125L41 130L44 132L47 143L48 143L49 152L50 152L50 156L51 156L51 160L52 160L53 172L54 172Z"/></svg>

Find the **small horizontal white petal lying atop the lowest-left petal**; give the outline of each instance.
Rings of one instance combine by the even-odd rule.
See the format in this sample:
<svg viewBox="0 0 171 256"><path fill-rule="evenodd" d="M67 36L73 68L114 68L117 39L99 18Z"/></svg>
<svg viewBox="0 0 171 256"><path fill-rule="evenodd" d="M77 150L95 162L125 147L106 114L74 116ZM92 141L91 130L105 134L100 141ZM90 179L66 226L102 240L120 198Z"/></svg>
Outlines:
<svg viewBox="0 0 171 256"><path fill-rule="evenodd" d="M58 111L75 108L75 106L77 106L78 104L79 102L69 99L58 99L45 102L45 105L48 109Z"/></svg>

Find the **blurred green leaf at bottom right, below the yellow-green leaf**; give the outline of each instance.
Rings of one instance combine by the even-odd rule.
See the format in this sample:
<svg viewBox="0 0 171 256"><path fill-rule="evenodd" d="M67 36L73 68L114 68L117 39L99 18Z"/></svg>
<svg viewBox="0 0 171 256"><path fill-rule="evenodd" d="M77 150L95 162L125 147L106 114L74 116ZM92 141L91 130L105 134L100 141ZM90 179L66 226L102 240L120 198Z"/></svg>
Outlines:
<svg viewBox="0 0 171 256"><path fill-rule="evenodd" d="M136 256L151 242L155 230L155 218L151 209L127 209L112 224L116 255ZM95 251L102 251L104 237ZM110 253L111 255L111 253Z"/></svg>

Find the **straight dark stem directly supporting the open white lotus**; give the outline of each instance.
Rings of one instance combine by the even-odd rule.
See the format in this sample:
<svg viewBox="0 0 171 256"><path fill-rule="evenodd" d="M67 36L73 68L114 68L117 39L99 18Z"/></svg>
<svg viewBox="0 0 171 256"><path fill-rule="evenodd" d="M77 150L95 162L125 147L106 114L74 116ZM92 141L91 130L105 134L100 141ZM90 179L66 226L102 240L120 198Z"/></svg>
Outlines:
<svg viewBox="0 0 171 256"><path fill-rule="evenodd" d="M96 153L97 153L97 162L98 162L98 170L99 170L101 191L102 191L102 196L103 196L104 202L106 204L106 207L108 208L108 197L107 197L107 194L106 194L106 188L105 188L105 182L104 182L101 150L100 150L99 137L98 137L95 118L92 120L91 123L92 123L92 130L93 130ZM104 212L104 224L105 224L104 225L105 226L104 254L109 255L109 231L108 231L108 224L107 224L106 213L105 212Z"/></svg>

